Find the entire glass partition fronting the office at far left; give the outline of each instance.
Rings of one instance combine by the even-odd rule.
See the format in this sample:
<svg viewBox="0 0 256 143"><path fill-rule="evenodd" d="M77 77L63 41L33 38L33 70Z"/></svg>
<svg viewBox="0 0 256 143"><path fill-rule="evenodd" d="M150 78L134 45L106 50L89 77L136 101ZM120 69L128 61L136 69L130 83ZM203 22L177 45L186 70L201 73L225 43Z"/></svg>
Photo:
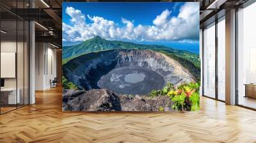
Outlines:
<svg viewBox="0 0 256 143"><path fill-rule="evenodd" d="M13 12L25 12L29 1L0 1ZM15 11L19 8L20 11ZM24 13L20 13L21 15ZM0 113L29 103L29 22L0 8L1 92Z"/></svg>

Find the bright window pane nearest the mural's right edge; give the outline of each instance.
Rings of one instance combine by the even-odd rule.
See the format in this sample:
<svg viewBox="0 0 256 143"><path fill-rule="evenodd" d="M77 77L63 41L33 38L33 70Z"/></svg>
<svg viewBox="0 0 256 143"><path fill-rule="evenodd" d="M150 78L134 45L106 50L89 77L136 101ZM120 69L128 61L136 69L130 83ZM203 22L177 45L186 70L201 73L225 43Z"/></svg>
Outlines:
<svg viewBox="0 0 256 143"><path fill-rule="evenodd" d="M215 25L204 29L204 95L215 98Z"/></svg>

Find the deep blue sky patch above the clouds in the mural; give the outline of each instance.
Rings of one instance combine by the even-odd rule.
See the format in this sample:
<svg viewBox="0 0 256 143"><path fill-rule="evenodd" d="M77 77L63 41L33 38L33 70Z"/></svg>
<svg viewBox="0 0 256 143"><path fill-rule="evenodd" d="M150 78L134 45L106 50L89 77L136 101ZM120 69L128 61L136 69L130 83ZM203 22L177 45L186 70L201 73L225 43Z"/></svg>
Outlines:
<svg viewBox="0 0 256 143"><path fill-rule="evenodd" d="M124 26L121 22L122 17L134 20L134 25L150 25L156 15L160 15L163 10L173 10L172 15L178 15L178 8L182 4L184 3L63 3L62 15L63 22L72 25L70 17L65 12L67 6L72 6L82 13L113 20L120 26Z"/></svg>

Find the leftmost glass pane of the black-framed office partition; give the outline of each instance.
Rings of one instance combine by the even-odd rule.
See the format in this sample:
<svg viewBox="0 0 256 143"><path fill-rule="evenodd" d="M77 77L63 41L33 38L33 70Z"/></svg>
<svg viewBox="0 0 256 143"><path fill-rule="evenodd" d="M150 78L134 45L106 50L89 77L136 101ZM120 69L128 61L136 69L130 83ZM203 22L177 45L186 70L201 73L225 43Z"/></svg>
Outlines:
<svg viewBox="0 0 256 143"><path fill-rule="evenodd" d="M1 21L1 113L16 109L17 96L16 58L17 22ZM19 94L18 94L19 95Z"/></svg>

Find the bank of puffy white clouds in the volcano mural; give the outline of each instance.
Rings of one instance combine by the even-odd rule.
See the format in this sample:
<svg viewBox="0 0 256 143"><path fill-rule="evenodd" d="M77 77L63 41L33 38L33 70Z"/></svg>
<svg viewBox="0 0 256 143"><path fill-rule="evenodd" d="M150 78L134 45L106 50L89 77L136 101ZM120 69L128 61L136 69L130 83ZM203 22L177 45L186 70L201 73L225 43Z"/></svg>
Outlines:
<svg viewBox="0 0 256 143"><path fill-rule="evenodd" d="M185 3L180 6L179 15L172 16L172 11L164 10L152 21L152 26L139 24L134 26L131 20L122 18L124 27L112 20L87 15L72 7L67 7L71 25L63 23L63 41L84 41L93 36L108 40L165 41L165 40L198 40L199 38L199 5Z"/></svg>

